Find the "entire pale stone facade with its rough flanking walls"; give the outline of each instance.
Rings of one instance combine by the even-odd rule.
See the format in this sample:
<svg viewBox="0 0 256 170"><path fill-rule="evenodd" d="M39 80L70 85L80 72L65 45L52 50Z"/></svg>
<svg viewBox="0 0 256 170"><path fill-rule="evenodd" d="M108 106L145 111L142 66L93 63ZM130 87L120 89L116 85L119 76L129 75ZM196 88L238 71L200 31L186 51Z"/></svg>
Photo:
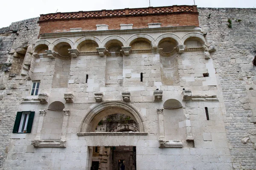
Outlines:
<svg viewBox="0 0 256 170"><path fill-rule="evenodd" d="M159 8L197 16L178 27L129 9L138 16L119 27L109 22L124 16L66 19L95 22L95 31L59 29L67 13L1 28L0 170L90 169L97 160L114 170L125 159L138 170L256 169L256 10L177 11L185 7ZM14 131L23 112L35 113L31 133Z"/></svg>

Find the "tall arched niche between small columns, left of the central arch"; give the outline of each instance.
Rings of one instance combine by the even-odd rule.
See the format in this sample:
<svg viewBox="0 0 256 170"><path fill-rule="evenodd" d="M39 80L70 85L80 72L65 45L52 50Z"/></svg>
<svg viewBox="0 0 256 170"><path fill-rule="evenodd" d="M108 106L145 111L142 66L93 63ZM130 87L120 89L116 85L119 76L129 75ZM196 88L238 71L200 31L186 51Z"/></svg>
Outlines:
<svg viewBox="0 0 256 170"><path fill-rule="evenodd" d="M64 108L64 104L59 101L52 102L49 105L41 133L42 139L59 140L61 138Z"/></svg>

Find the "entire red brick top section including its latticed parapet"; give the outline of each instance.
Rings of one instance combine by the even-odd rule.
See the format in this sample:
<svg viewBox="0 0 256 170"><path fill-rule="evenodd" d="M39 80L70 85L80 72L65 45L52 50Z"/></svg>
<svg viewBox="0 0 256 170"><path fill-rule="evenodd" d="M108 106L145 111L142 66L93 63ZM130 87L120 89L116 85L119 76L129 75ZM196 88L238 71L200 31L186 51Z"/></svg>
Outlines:
<svg viewBox="0 0 256 170"><path fill-rule="evenodd" d="M59 12L41 14L38 23L41 27L40 34L67 32L70 28L96 30L96 24L106 24L109 30L120 29L120 24L133 24L133 28L148 28L148 23L162 23L161 27L199 26L196 6Z"/></svg>

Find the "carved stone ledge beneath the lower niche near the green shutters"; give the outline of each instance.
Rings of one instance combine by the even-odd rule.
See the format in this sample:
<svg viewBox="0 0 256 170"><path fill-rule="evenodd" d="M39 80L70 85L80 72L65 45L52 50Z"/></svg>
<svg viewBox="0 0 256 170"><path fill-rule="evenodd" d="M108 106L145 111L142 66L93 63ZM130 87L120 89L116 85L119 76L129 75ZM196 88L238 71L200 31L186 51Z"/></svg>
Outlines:
<svg viewBox="0 0 256 170"><path fill-rule="evenodd" d="M66 147L66 141L63 140L32 140L34 147Z"/></svg>

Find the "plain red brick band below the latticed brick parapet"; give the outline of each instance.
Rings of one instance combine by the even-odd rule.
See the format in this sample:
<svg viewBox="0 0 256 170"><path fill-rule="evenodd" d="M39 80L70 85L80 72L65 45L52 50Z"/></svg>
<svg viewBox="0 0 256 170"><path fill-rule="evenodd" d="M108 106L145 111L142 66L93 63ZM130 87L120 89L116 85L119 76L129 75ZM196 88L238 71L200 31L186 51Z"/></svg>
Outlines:
<svg viewBox="0 0 256 170"><path fill-rule="evenodd" d="M133 28L148 28L148 23L162 23L161 27L199 26L198 13L148 14L142 16L118 16L85 18L80 20L50 20L40 22L40 34L67 32L70 28L82 28L82 31L96 30L96 24L106 24L108 29L120 29L120 24L133 24Z"/></svg>

